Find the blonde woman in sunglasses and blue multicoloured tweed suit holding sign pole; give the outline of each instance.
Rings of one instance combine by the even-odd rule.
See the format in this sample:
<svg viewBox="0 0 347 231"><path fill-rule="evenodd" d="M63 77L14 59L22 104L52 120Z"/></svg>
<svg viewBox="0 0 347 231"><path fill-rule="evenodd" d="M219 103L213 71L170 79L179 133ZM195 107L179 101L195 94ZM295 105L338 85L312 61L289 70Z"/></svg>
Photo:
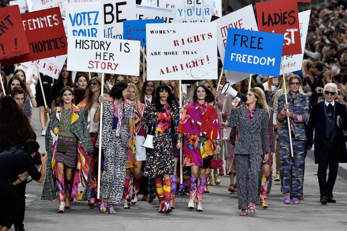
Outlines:
<svg viewBox="0 0 347 231"><path fill-rule="evenodd" d="M305 125L310 110L310 97L302 92L301 78L294 75L289 78L286 104L285 95L278 98L278 121L281 122L278 140L280 143L280 174L282 179L283 202L299 204L299 197L303 196L303 181L305 168ZM288 122L290 122L291 139L293 143L293 157L290 152Z"/></svg>

